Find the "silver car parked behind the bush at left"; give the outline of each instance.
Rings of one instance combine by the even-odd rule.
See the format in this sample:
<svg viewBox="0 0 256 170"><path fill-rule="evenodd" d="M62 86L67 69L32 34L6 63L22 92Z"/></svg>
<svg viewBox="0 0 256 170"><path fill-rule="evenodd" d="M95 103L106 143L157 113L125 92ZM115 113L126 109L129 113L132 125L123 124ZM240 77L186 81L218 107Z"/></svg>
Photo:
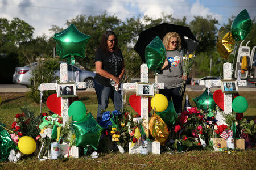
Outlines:
<svg viewBox="0 0 256 170"><path fill-rule="evenodd" d="M63 61L60 61L62 63ZM13 82L15 84L22 84L25 86L31 85L31 70L35 68L37 62L34 62L30 65L24 67L15 67L15 72L13 74ZM73 77L72 77L73 70ZM72 69L72 65L68 65L68 81L71 81L72 78L75 81L75 72L79 71L79 82L86 83L87 88L93 88L93 78L96 73L92 71L85 71L79 69L79 67L74 65L74 69ZM60 77L60 70L56 70L54 73L56 76Z"/></svg>

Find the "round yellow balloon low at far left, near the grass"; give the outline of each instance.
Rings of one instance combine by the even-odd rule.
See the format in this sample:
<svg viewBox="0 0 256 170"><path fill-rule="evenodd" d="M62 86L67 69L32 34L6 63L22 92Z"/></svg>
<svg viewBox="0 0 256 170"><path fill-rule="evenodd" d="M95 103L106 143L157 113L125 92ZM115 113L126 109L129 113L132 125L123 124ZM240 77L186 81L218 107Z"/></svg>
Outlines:
<svg viewBox="0 0 256 170"><path fill-rule="evenodd" d="M18 147L20 152L29 155L35 152L36 142L33 138L24 136L19 139Z"/></svg>

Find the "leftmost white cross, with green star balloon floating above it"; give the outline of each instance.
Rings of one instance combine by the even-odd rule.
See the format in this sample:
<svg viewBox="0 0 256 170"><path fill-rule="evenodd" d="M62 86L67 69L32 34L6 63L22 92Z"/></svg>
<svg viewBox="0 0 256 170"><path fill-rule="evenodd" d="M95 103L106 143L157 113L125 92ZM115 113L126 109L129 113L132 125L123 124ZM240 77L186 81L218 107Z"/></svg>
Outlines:
<svg viewBox="0 0 256 170"><path fill-rule="evenodd" d="M60 63L60 82L68 82L68 65L67 63ZM39 85L39 91L56 90L57 83L42 83ZM85 82L76 83L77 89L85 88ZM68 97L61 97L61 117L63 118L63 126L68 120Z"/></svg>

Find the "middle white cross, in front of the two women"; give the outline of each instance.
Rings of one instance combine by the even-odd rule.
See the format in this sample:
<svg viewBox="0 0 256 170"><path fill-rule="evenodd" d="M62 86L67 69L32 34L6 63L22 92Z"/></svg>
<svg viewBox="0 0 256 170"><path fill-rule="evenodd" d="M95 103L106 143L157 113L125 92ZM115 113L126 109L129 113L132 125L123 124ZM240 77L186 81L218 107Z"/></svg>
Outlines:
<svg viewBox="0 0 256 170"><path fill-rule="evenodd" d="M148 82L148 67L146 64L141 65L141 82ZM164 83L155 83L156 88L164 88ZM123 90L136 90L136 83L124 83ZM148 137L148 97L141 97L141 117L133 118L133 121L143 119L143 127Z"/></svg>

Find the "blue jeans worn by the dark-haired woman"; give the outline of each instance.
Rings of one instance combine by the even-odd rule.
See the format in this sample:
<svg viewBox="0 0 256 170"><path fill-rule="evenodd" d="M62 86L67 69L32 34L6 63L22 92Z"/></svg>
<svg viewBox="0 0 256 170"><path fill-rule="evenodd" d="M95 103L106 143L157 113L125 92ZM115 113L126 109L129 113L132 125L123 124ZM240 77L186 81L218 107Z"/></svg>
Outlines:
<svg viewBox="0 0 256 170"><path fill-rule="evenodd" d="M108 108L109 98L113 101L116 110L122 109L122 95L121 91L115 91L112 87L102 86L94 80L94 88L98 99L97 122L101 120L102 110Z"/></svg>

